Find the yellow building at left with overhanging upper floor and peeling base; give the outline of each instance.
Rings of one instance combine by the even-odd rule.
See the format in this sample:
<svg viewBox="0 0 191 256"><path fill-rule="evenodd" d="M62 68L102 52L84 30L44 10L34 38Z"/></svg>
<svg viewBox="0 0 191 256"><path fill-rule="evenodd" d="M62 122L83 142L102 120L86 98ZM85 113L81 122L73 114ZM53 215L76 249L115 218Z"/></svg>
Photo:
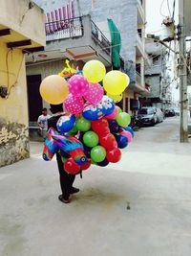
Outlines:
<svg viewBox="0 0 191 256"><path fill-rule="evenodd" d="M0 3L0 167L29 157L25 53L43 50L44 13L26 0Z"/></svg>

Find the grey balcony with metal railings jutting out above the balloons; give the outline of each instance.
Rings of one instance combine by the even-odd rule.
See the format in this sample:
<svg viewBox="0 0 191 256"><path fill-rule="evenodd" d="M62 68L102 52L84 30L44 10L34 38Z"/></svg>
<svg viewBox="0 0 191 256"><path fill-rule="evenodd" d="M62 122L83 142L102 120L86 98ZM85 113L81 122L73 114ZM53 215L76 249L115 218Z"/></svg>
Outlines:
<svg viewBox="0 0 191 256"><path fill-rule="evenodd" d="M45 24L47 52L60 49L64 58L98 59L111 66L111 43L92 21L90 15Z"/></svg>

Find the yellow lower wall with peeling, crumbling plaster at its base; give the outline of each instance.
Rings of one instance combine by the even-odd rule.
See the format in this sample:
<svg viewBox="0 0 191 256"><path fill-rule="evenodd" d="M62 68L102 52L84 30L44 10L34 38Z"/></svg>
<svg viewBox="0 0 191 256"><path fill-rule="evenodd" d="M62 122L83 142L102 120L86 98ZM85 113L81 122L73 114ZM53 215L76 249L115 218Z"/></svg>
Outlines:
<svg viewBox="0 0 191 256"><path fill-rule="evenodd" d="M8 99L0 97L0 167L30 155L25 59L19 49L8 51L0 41L0 85L10 88Z"/></svg>

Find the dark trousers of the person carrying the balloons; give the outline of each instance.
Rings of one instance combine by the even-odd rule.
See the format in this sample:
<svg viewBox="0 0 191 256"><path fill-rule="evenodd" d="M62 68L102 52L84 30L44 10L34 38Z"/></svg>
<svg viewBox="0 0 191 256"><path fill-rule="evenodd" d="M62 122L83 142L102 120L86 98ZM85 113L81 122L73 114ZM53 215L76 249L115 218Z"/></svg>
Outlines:
<svg viewBox="0 0 191 256"><path fill-rule="evenodd" d="M59 153L56 153L56 159L60 175L60 187L62 191L62 197L68 199L70 197L70 191L73 187L75 175L68 175L65 172L64 164Z"/></svg>

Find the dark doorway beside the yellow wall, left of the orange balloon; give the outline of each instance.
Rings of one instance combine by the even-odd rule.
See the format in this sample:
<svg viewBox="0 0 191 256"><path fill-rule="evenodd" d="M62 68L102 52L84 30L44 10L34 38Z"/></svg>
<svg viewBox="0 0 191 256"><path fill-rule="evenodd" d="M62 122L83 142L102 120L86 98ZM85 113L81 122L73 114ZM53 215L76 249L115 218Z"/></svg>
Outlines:
<svg viewBox="0 0 191 256"><path fill-rule="evenodd" d="M43 104L42 104L42 98L39 92L40 83L41 83L41 75L27 76L30 122L36 122L38 119L38 116L42 112Z"/></svg>

